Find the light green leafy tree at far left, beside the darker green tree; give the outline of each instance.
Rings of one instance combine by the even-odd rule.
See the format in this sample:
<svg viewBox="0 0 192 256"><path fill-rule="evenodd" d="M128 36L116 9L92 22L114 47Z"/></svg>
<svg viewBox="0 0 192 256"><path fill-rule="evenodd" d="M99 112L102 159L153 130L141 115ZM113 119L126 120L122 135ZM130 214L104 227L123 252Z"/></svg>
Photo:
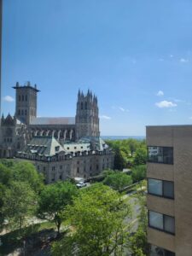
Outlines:
<svg viewBox="0 0 192 256"><path fill-rule="evenodd" d="M37 197L28 183L11 182L4 193L2 212L11 226L21 229L26 219L34 215L36 202Z"/></svg>

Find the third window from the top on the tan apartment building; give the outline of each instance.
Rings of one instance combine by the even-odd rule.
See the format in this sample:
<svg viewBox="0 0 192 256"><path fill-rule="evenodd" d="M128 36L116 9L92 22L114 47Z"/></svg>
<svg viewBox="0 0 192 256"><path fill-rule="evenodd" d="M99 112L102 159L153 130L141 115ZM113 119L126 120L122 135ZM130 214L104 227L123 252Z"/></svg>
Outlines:
<svg viewBox="0 0 192 256"><path fill-rule="evenodd" d="M175 218L160 212L148 211L148 226L170 234L175 234Z"/></svg>

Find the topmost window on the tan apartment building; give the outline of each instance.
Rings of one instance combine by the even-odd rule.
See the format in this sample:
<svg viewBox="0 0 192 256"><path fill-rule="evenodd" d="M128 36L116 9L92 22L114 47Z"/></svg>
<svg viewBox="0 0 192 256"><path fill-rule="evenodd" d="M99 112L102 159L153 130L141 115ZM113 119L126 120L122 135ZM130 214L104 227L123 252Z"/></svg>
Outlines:
<svg viewBox="0 0 192 256"><path fill-rule="evenodd" d="M148 147L148 161L153 163L173 164L172 147Z"/></svg>

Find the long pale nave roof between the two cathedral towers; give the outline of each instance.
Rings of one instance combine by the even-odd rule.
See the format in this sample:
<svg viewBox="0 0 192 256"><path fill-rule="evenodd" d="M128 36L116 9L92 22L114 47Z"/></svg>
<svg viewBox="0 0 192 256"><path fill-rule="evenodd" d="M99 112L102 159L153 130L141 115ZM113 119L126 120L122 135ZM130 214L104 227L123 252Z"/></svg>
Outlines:
<svg viewBox="0 0 192 256"><path fill-rule="evenodd" d="M75 125L74 117L38 117L30 125Z"/></svg>

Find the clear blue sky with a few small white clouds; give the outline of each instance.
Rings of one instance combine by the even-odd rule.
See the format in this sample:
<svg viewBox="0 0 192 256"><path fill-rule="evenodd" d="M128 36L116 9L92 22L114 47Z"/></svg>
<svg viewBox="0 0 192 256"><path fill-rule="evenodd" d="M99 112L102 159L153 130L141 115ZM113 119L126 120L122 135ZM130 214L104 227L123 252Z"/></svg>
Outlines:
<svg viewBox="0 0 192 256"><path fill-rule="evenodd" d="M192 124L191 0L3 0L2 110L37 84L38 116L75 116L98 97L104 136Z"/></svg>

